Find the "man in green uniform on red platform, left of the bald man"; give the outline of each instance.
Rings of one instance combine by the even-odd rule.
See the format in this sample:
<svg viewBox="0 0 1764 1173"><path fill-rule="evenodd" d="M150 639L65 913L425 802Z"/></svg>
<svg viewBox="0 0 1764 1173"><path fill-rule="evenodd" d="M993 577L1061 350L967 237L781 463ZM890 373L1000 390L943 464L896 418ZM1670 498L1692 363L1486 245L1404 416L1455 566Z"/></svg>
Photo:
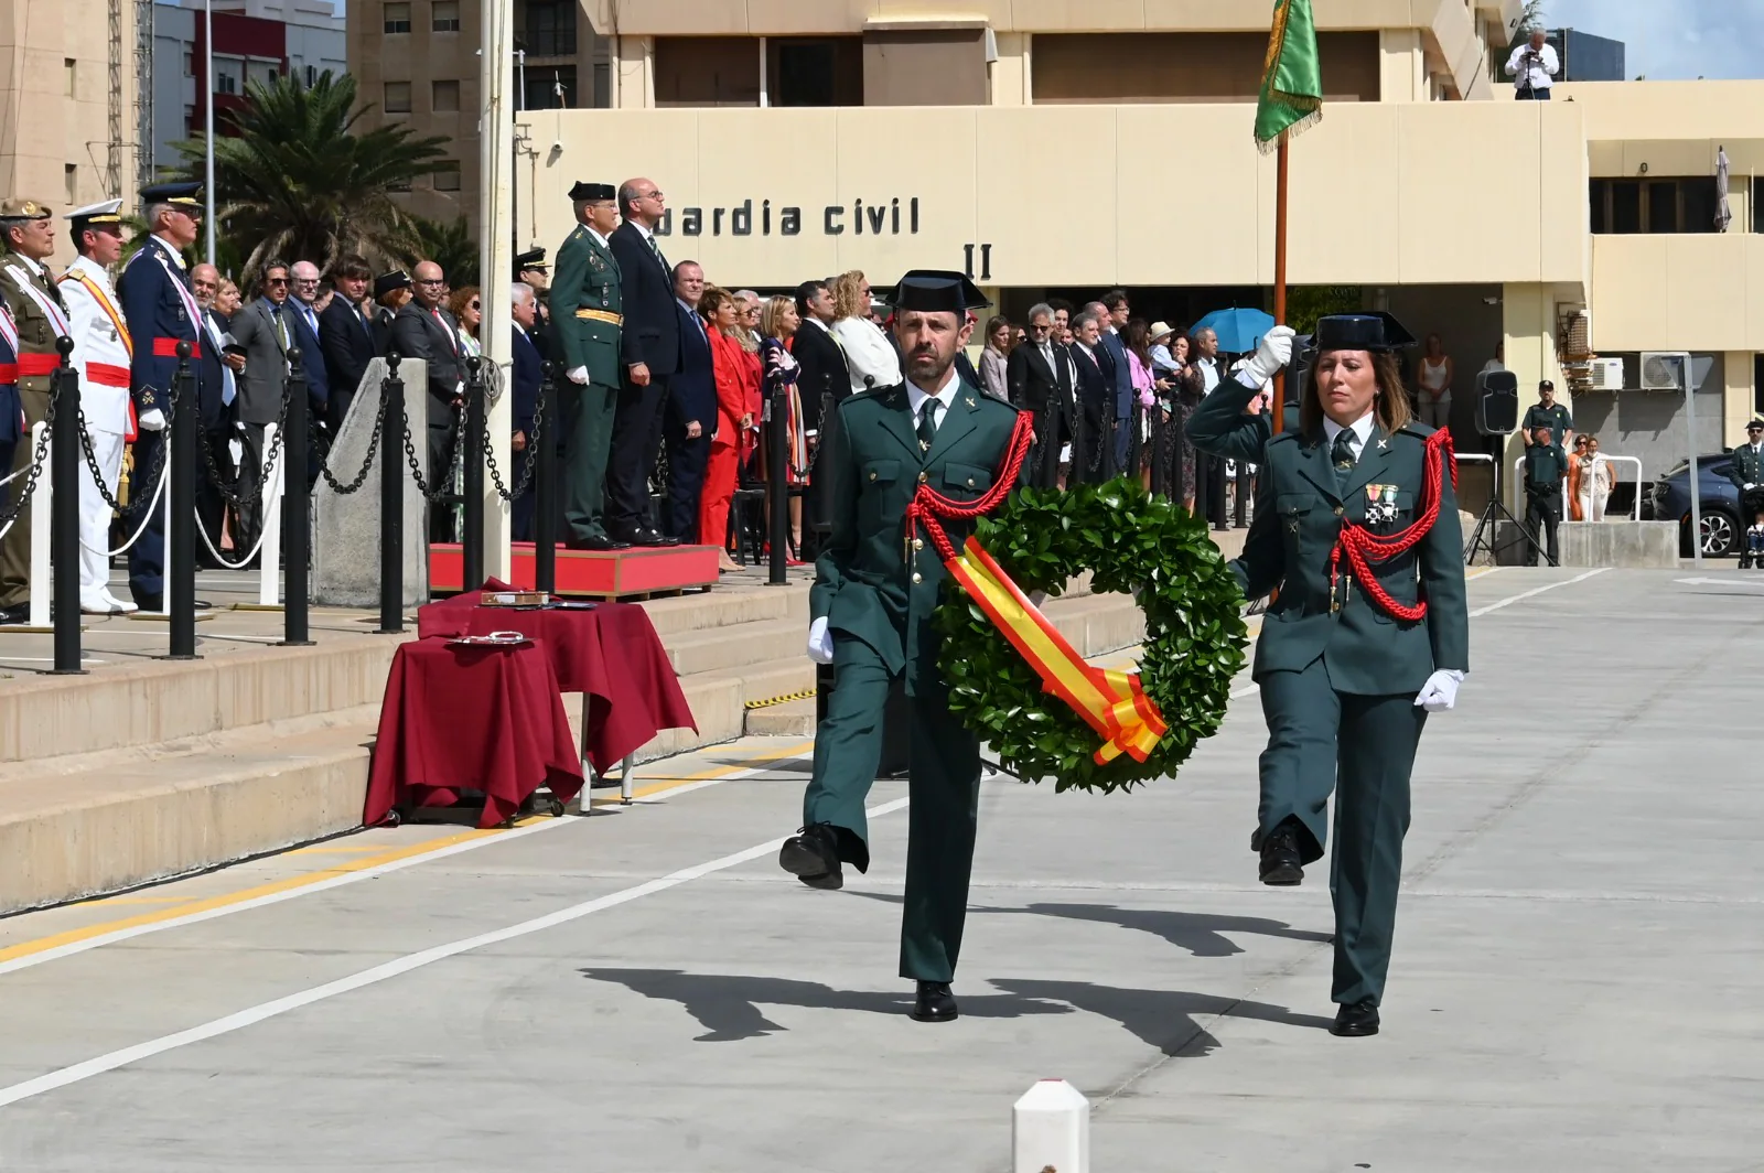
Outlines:
<svg viewBox="0 0 1764 1173"><path fill-rule="evenodd" d="M607 534L607 455L612 413L619 402L624 302L619 261L607 236L619 224L612 183L577 183L575 231L557 249L557 280L550 291L552 358L564 367L563 392L563 515L572 550L624 550L630 542Z"/></svg>

